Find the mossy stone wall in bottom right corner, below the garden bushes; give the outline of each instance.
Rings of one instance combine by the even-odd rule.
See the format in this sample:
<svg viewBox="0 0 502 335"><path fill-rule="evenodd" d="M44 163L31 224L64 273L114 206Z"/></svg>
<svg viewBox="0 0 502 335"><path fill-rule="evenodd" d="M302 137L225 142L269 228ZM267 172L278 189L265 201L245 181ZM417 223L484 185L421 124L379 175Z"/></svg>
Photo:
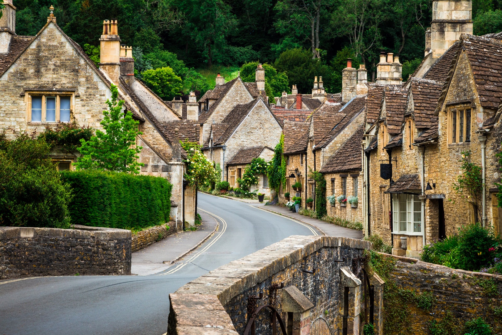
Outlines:
<svg viewBox="0 0 502 335"><path fill-rule="evenodd" d="M490 324L493 334L502 333L502 276L454 270L413 258L381 255L395 262L390 280L399 288L421 294L432 293L432 306L428 310L411 301L407 304L407 333L428 335L430 322L444 320L450 313L452 325L459 327L456 333L463 334L465 321L478 317L483 317Z"/></svg>

